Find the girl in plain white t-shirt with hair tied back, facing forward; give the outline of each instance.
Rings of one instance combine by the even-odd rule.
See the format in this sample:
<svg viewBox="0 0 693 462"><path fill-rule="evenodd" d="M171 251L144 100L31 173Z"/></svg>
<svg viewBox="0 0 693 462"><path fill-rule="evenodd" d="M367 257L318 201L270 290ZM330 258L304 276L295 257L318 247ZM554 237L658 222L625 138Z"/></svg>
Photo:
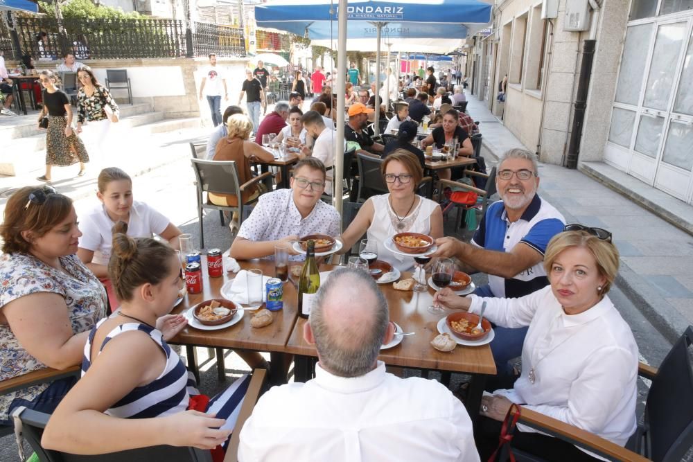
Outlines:
<svg viewBox="0 0 693 462"><path fill-rule="evenodd" d="M168 240L174 249L180 248L178 236L182 233L167 217L144 202L133 200L132 179L120 168L109 167L101 170L98 174L96 197L101 204L87 213L80 223L82 237L77 256L104 283L111 309L115 310L120 302L108 279L107 267L111 256L114 224L123 220L128 224L128 236L133 238L151 238L157 234Z"/></svg>

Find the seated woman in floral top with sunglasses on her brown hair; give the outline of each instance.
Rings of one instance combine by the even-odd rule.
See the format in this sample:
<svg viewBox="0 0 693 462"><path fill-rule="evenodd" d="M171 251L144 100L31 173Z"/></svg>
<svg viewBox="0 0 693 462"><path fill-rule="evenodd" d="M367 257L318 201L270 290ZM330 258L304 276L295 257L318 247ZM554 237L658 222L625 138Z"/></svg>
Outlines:
<svg viewBox="0 0 693 462"><path fill-rule="evenodd" d="M0 238L0 381L46 366L80 364L89 329L106 314L106 292L75 255L77 214L51 186L8 199ZM74 383L57 380L0 396L0 423L25 406L51 412Z"/></svg>

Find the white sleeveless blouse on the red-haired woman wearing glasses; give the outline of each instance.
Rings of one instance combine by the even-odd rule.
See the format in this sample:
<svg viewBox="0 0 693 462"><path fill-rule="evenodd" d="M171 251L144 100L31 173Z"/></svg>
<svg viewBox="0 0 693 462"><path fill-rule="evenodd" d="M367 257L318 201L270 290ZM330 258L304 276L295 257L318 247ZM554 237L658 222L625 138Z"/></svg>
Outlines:
<svg viewBox="0 0 693 462"><path fill-rule="evenodd" d="M419 204L409 215L401 218L405 227L401 230L395 228L394 223L398 218L389 204L389 193L372 196L369 200L373 202L375 208L371 226L367 231L367 238L378 242L378 260L383 260L399 271L412 271L414 268L414 257L393 254L385 248L385 240L392 238L397 233L421 233L428 234L431 231L431 214L439 204L426 197L419 196Z"/></svg>

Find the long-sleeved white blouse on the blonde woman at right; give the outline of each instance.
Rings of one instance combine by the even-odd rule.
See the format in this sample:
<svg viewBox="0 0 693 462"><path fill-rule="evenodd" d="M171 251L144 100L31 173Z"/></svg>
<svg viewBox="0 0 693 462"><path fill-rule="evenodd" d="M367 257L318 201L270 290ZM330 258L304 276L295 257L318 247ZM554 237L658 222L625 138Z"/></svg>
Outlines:
<svg viewBox="0 0 693 462"><path fill-rule="evenodd" d="M480 312L486 301L484 316L498 326L529 326L522 375L513 389L495 394L626 444L636 426L638 346L608 296L572 315L563 312L551 286L519 299L471 299L469 311Z"/></svg>

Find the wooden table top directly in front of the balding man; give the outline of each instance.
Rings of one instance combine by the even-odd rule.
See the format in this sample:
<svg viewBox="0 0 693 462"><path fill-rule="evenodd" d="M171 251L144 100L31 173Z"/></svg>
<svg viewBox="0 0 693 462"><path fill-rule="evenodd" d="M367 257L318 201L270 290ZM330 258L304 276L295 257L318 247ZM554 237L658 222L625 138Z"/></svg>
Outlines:
<svg viewBox="0 0 693 462"><path fill-rule="evenodd" d="M326 269L328 267L325 265L321 267L321 270ZM402 278L410 276L411 273L403 273ZM457 345L457 348L450 353L442 353L430 346L430 341L438 335L436 328L438 320L449 313L449 311L443 314L428 312L427 308L435 294L430 287L428 292L403 292L394 290L392 284L381 284L380 289L387 298L390 319L398 323L404 332L416 332L416 335L404 337L398 346L382 350L378 359L390 366L495 375L495 363L489 345L475 347ZM286 344L286 353L317 356L315 347L306 343L303 338L305 323L306 319L297 317Z"/></svg>

